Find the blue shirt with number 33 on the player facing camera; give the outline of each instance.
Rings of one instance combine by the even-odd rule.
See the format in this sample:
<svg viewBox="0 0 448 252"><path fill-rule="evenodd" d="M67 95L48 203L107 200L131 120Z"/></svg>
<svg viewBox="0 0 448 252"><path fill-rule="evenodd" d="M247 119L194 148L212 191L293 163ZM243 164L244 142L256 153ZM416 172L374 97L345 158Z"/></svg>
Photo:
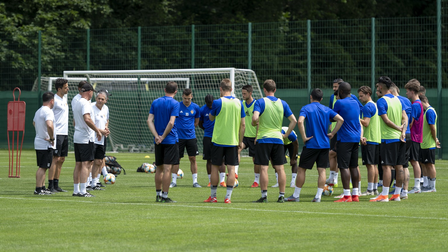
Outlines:
<svg viewBox="0 0 448 252"><path fill-rule="evenodd" d="M190 106L186 107L182 101L179 102L179 117L176 118L176 129L179 139L196 138L194 119L199 118L200 114L198 104L192 102Z"/></svg>

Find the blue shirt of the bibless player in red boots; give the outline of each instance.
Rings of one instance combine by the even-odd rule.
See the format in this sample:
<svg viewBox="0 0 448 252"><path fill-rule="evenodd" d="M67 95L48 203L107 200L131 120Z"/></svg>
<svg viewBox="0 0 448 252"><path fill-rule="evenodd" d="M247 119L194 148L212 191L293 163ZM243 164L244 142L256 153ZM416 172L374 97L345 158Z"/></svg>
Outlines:
<svg viewBox="0 0 448 252"><path fill-rule="evenodd" d="M337 132L337 140L342 143L358 143L361 138L359 106L353 97L337 100L333 111L338 113L344 123Z"/></svg>

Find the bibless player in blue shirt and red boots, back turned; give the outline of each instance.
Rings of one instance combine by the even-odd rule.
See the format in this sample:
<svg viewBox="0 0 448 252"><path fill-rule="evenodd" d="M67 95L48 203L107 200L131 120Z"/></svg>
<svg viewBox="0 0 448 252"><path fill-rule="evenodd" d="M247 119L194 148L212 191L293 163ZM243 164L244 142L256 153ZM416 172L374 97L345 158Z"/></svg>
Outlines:
<svg viewBox="0 0 448 252"><path fill-rule="evenodd" d="M344 124L337 134L336 153L337 164L341 174L342 185L344 187L344 197L335 202L359 201L358 198L358 151L361 141L361 124L359 122L360 109L358 99L353 99L351 86L343 82L339 85L339 98L333 111L344 118ZM353 196L350 195L350 177L353 182ZM355 185L356 183L356 185Z"/></svg>

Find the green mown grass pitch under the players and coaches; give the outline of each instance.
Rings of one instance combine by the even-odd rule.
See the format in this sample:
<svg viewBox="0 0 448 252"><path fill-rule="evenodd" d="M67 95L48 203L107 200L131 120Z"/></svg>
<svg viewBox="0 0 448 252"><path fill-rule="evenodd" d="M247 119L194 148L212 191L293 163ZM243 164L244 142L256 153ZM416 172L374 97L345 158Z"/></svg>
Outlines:
<svg viewBox="0 0 448 252"><path fill-rule="evenodd" d="M136 173L142 153L114 153L126 169L95 198L73 197L74 156L69 153L60 187L69 192L33 195L35 152L22 152L21 178L8 178L8 151L0 151L0 251L448 251L448 161L437 161L435 193L410 195L401 202L374 203L367 196L356 203L334 203L316 193L317 171L307 172L301 202L276 202L278 188L268 188L268 204L251 188L251 158L242 158L239 187L232 204L203 203L210 194L205 162L198 160L198 182L192 187L189 162L181 161L185 176L169 197L178 203L155 203L154 175ZM200 157L200 156L198 156ZM360 167L362 191L366 169ZM291 180L286 166L287 184ZM412 170L412 169L411 169ZM327 174L329 170L327 170ZM275 183L269 170L270 186ZM412 172L411 172L412 178ZM411 181L411 186L413 185ZM381 190L381 187L379 188ZM335 195L342 192L335 188ZM286 188L286 196L293 188Z"/></svg>

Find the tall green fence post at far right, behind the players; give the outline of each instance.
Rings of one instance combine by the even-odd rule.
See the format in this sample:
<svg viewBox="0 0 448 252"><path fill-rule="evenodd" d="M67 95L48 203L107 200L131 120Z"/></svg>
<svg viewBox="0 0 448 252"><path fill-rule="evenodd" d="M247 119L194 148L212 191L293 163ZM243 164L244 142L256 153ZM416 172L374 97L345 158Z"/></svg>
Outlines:
<svg viewBox="0 0 448 252"><path fill-rule="evenodd" d="M437 112L442 115L442 4L437 0ZM438 139L442 139L442 120L437 122ZM442 159L442 148L439 148L439 159Z"/></svg>

